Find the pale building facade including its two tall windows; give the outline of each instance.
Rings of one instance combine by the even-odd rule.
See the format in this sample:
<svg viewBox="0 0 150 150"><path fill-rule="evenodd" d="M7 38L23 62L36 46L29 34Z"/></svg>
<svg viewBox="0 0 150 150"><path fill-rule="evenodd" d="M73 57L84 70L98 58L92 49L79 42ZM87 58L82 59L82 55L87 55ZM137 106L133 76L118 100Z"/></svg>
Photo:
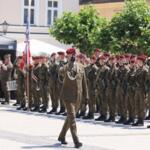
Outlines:
<svg viewBox="0 0 150 150"><path fill-rule="evenodd" d="M24 40L25 25L30 10L31 38L61 46L48 29L63 12L78 12L79 0L0 0L0 34L7 23L7 36L18 42Z"/></svg>

